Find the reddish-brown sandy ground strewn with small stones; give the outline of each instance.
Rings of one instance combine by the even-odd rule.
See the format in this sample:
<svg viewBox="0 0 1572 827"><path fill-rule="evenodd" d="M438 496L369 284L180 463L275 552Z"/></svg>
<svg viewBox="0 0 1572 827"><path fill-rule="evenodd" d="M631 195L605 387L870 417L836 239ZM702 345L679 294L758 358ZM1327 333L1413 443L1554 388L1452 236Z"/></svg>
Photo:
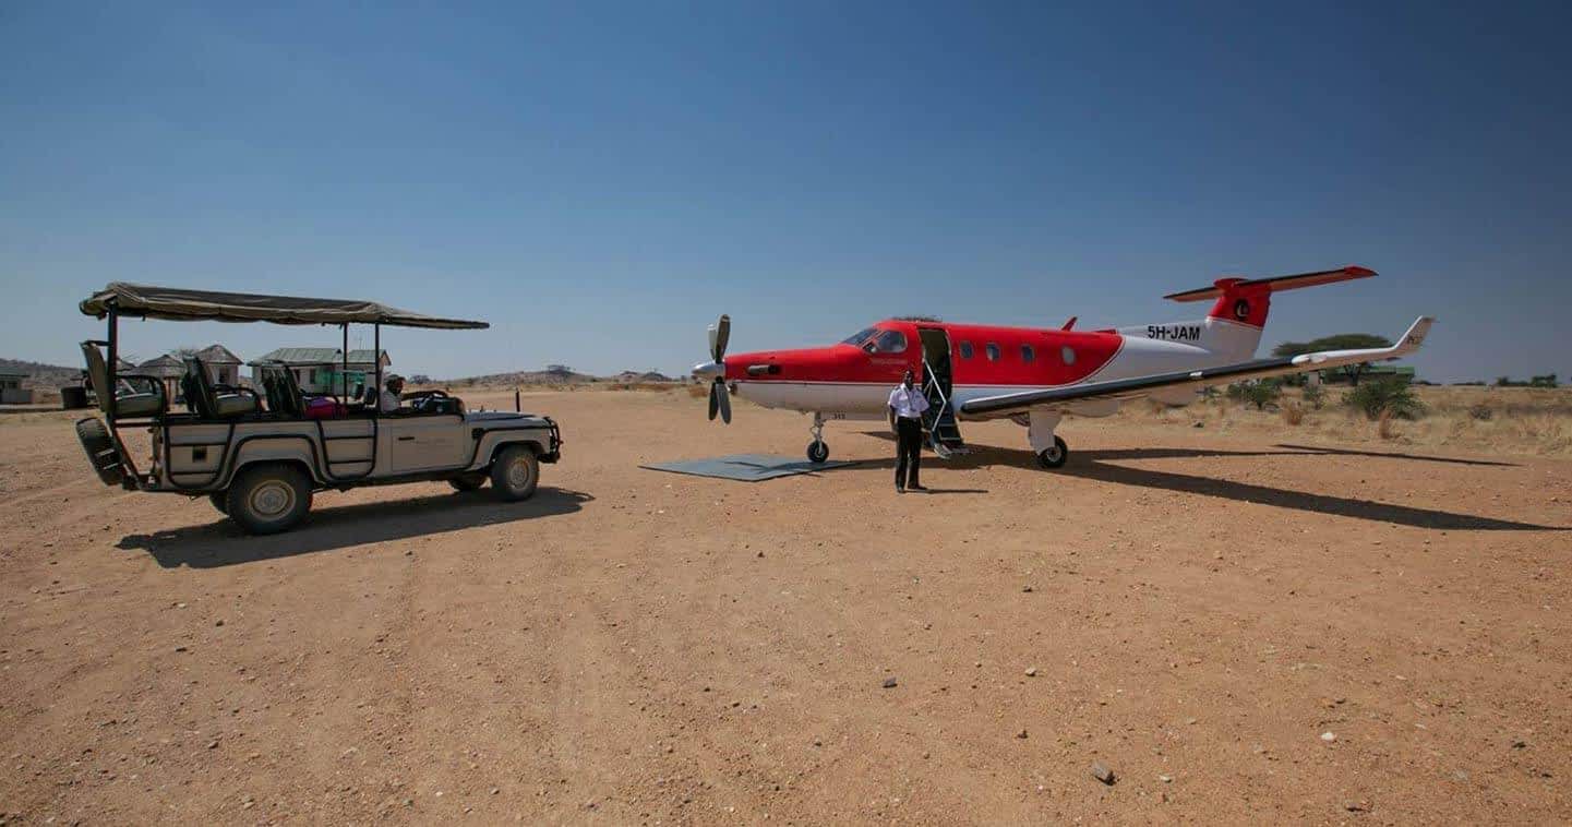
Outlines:
<svg viewBox="0 0 1572 827"><path fill-rule="evenodd" d="M1072 420L1050 473L990 423L896 495L858 423L747 484L635 465L805 418L528 406L534 500L327 492L278 538L0 418L0 821L1572 819L1564 459Z"/></svg>

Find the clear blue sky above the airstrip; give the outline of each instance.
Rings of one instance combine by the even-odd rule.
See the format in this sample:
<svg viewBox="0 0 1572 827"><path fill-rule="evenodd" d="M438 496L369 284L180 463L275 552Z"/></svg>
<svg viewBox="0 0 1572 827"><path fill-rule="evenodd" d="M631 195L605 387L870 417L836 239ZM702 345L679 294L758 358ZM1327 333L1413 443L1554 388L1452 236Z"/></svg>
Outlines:
<svg viewBox="0 0 1572 827"><path fill-rule="evenodd" d="M366 297L402 373L610 373L898 313L1265 344L1440 318L1421 376L1572 374L1566 6L8 3L0 355L110 280ZM366 332L369 335L369 332ZM151 357L336 330L126 325Z"/></svg>

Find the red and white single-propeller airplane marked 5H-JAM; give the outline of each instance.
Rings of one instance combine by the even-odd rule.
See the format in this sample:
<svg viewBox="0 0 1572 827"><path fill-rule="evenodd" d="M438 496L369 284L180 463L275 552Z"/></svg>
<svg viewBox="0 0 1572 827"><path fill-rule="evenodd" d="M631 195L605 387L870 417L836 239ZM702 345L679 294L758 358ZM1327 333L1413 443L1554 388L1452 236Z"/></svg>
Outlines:
<svg viewBox="0 0 1572 827"><path fill-rule="evenodd" d="M1322 351L1254 358L1272 294L1368 278L1364 267L1342 267L1270 278L1220 278L1209 288L1166 296L1174 302L1214 300L1204 319L1105 330L949 324L885 319L839 344L726 355L731 319L709 329L711 362L693 366L712 377L709 418L731 421L729 393L764 407L813 414L808 459L830 456L828 420L882 420L890 390L907 369L921 377L932 401L924 429L940 456L960 450L959 423L1011 418L1045 469L1069 458L1053 434L1066 414L1108 417L1127 399L1148 396L1170 406L1193 402L1207 385L1319 371L1339 365L1399 358L1420 347L1434 319L1421 316L1391 347Z"/></svg>

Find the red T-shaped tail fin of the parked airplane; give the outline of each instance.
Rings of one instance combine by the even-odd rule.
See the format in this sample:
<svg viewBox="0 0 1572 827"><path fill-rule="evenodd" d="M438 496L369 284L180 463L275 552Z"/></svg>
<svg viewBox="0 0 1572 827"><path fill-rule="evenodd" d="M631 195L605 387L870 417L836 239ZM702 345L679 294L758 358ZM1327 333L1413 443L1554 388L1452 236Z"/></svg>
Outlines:
<svg viewBox="0 0 1572 827"><path fill-rule="evenodd" d="M1210 288L1198 288L1184 292L1163 296L1174 302L1204 302L1215 299L1212 311L1206 319L1196 322L1176 322L1121 329L1124 335L1159 338L1170 341L1187 341L1217 354L1220 358L1250 358L1261 344L1261 329L1267 324L1267 311L1272 308L1272 294L1349 281L1353 278L1369 278L1376 270L1347 266L1336 270L1317 270L1295 275L1273 275L1267 278L1218 278Z"/></svg>

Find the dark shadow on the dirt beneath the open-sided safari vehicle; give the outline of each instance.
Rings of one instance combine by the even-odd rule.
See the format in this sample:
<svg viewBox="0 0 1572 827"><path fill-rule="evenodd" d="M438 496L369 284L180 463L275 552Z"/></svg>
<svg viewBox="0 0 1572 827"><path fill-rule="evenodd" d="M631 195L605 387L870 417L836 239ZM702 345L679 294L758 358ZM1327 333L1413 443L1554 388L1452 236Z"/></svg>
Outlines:
<svg viewBox="0 0 1572 827"><path fill-rule="evenodd" d="M542 487L522 503L503 503L489 491L439 494L413 500L384 500L313 509L292 531L272 536L250 536L237 525L219 517L206 525L189 525L152 535L127 535L115 546L143 550L167 569L190 566L212 569L258 563L313 552L330 552L351 546L440 535L481 525L531 520L571 514L594 500L588 494ZM206 503L203 503L206 506Z"/></svg>

